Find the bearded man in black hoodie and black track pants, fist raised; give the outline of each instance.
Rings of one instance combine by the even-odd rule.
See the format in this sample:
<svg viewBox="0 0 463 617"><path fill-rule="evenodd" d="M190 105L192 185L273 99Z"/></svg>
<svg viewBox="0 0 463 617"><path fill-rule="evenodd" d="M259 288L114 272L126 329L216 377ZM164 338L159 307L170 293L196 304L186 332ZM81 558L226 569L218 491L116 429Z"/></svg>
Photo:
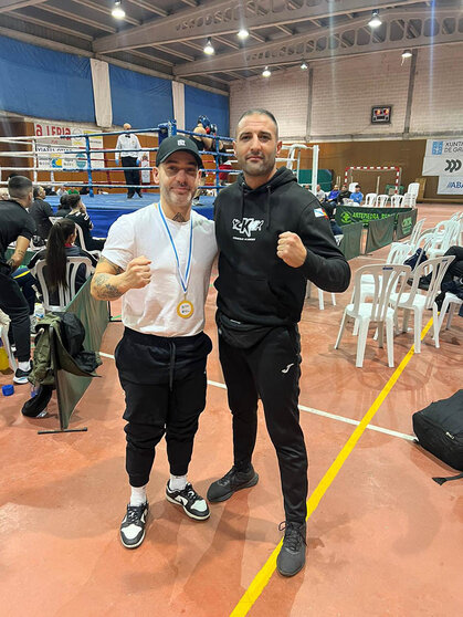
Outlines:
<svg viewBox="0 0 463 617"><path fill-rule="evenodd" d="M234 464L210 485L208 499L225 501L257 483L251 459L260 397L278 458L285 510L276 567L293 576L305 564L307 516L307 453L297 408L297 323L307 280L325 291L343 292L350 269L316 197L286 167L276 169L282 143L273 114L245 112L233 146L243 174L215 200L220 250L215 287Z"/></svg>

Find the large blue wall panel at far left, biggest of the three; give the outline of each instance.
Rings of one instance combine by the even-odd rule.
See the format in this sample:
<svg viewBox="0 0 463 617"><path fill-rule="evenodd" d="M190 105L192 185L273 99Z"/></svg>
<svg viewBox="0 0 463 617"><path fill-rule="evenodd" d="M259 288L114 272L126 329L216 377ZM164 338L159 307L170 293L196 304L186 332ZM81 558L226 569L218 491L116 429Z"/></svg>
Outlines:
<svg viewBox="0 0 463 617"><path fill-rule="evenodd" d="M0 109L95 122L90 60L0 36Z"/></svg>

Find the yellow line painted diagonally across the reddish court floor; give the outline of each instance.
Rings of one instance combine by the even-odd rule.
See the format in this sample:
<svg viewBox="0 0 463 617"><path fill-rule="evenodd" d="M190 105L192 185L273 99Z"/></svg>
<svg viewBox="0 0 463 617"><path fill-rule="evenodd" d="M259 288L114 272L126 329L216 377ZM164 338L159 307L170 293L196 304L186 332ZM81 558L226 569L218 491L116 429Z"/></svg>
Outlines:
<svg viewBox="0 0 463 617"><path fill-rule="evenodd" d="M428 333L428 331L431 326L432 326L432 317L427 323L427 325L424 326L424 328L421 332L421 341L424 338L425 334ZM317 488L314 490L312 495L308 498L308 500L307 500L307 520L309 519L309 516L317 509L318 503L320 502L323 495L326 493L329 485L332 484L332 482L334 481L334 479L338 474L340 468L346 462L346 459L348 458L350 452L354 450L355 446L357 445L357 441L360 439L360 437L364 433L364 431L366 430L367 426L370 423L375 414L381 407L383 400L386 399L386 397L390 393L392 386L396 384L396 381L398 380L398 378L402 374L403 369L406 368L406 366L408 365L408 363L412 358L413 354L414 354L414 345L412 345L410 347L406 357L402 359L402 362L399 364L397 369L393 372L393 375L390 377L389 381L386 384L386 386L379 393L375 402L371 405L371 407L365 414L365 416L360 420L360 423L357 426L357 428L355 429L352 435L349 437L346 445L343 447L343 450L339 452L339 454L336 457L335 461L333 462L332 467L328 469L328 471L325 473L325 475L322 478L320 482L318 483ZM250 586L248 587L248 589L242 595L240 602L236 604L233 611L230 614L230 617L244 617L251 610L253 604L259 598L259 596L262 594L262 592L264 590L269 581L271 579L273 573L276 569L276 557L280 553L282 542L283 542L283 540L280 541L280 544L273 551L273 553L271 554L269 560L265 562L263 567L260 569L260 572L257 572L257 574L255 575L255 577L251 582Z"/></svg>

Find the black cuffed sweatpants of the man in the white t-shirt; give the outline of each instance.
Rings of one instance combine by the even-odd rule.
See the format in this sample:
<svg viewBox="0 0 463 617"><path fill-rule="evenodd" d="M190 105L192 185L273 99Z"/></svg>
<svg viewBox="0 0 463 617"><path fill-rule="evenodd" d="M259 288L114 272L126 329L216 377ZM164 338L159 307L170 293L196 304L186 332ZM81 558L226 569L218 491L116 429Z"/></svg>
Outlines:
<svg viewBox="0 0 463 617"><path fill-rule="evenodd" d="M131 487L147 484L164 436L170 473L187 474L206 407L211 348L204 333L167 338L125 330L115 357L126 398L126 470Z"/></svg>

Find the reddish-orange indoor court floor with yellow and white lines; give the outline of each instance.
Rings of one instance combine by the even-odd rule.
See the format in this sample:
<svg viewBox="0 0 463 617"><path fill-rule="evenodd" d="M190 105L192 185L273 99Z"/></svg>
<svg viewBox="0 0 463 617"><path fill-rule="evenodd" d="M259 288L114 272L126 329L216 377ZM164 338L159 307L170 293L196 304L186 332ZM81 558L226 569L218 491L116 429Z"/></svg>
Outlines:
<svg viewBox="0 0 463 617"><path fill-rule="evenodd" d="M419 205L424 227L459 206ZM389 249L350 262L379 263ZM213 276L212 276L213 280ZM124 469L124 397L112 357L122 335L111 323L102 343L101 379L78 404L71 428L20 408L28 386L1 398L0 594L2 615L19 617L459 617L463 614L463 481L413 443L411 417L462 387L463 320L428 333L420 355L412 333L394 338L396 367L370 336L364 368L355 367L348 326L334 344L349 291L325 310L316 294L301 322L301 422L309 452L307 564L291 579L275 572L283 506L276 456L262 410L254 456L260 482L211 504L207 522L188 519L164 496L166 449L158 448L148 487L144 544L124 548L119 523L128 500ZM189 479L206 494L232 464L231 418L214 326L215 292L207 303L214 342L208 404L200 419ZM120 303L114 303L113 314ZM424 318L428 324L431 312ZM403 360L403 362L402 362ZM143 367L140 367L141 369ZM11 383L0 374L0 385ZM364 421L362 421L364 419ZM360 423L358 423L360 422ZM367 426L368 425L368 426Z"/></svg>

